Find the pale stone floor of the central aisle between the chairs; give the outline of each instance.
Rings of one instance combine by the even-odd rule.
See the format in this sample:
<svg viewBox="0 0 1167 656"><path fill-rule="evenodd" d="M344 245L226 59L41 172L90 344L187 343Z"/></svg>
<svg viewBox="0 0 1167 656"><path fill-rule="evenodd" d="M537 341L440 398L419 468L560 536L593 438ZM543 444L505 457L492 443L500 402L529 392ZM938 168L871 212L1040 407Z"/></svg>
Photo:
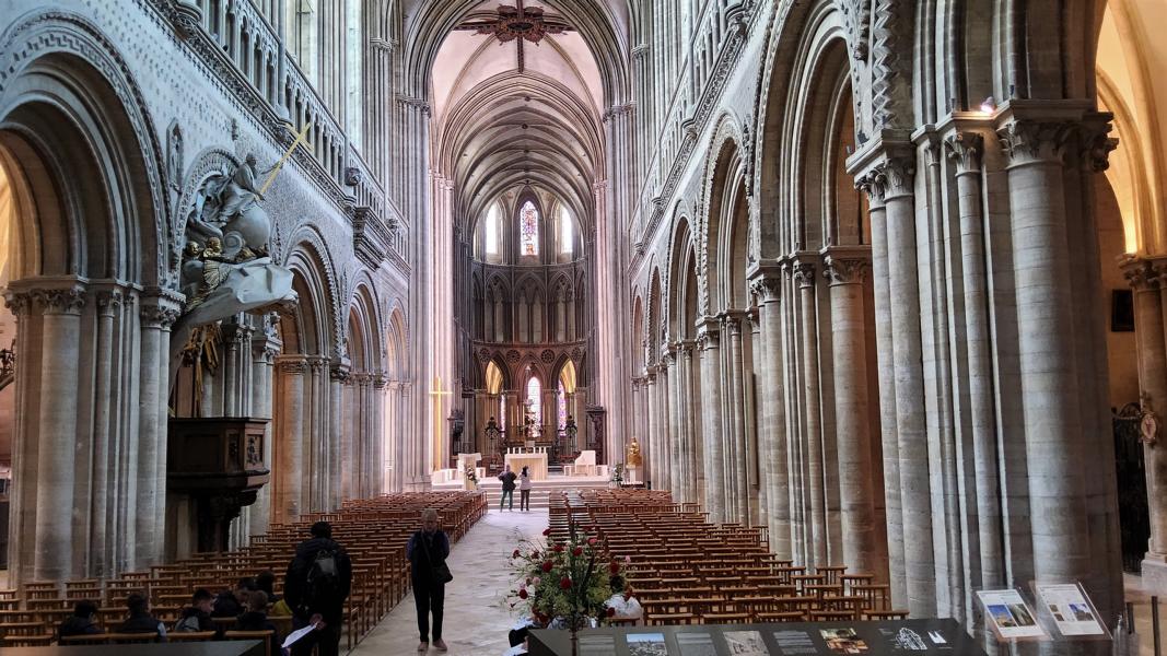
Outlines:
<svg viewBox="0 0 1167 656"><path fill-rule="evenodd" d="M506 631L515 619L503 600L511 587L508 560L520 539L541 538L547 511L498 512L491 510L454 546L446 586L446 621L442 637L450 656L498 656L508 649ZM397 605L369 637L352 650L356 656L415 656L418 620L410 594ZM438 654L431 649L431 655Z"/></svg>

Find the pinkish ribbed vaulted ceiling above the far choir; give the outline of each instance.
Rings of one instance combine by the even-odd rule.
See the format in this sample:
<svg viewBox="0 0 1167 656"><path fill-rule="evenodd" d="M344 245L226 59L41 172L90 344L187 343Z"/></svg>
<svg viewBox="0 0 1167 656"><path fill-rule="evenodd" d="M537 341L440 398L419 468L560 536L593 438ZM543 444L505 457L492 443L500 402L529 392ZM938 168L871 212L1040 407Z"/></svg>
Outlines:
<svg viewBox="0 0 1167 656"><path fill-rule="evenodd" d="M498 5L487 0L461 23L490 20ZM574 28L554 1L525 6ZM429 92L435 163L454 182L455 216L464 229L492 201L530 184L559 197L591 230L593 186L605 168L606 84L584 34L568 29L532 43L450 32L434 60Z"/></svg>

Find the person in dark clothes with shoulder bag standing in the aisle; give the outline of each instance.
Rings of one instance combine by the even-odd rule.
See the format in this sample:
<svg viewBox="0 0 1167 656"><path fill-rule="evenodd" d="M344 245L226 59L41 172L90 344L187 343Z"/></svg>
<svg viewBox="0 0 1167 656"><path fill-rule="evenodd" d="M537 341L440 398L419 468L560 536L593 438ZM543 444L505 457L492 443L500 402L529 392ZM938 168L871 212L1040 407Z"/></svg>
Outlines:
<svg viewBox="0 0 1167 656"><path fill-rule="evenodd" d="M511 489L513 489L511 473ZM434 616L433 638L438 651L446 651L446 642L441 638L441 617L446 606L446 584L449 567L446 558L449 556L449 538L446 531L438 528L438 511L429 508L421 512L421 530L413 533L405 545L405 557L410 559L410 574L413 579L413 601L418 606L418 633L421 642L418 651L429 649L429 614Z"/></svg>

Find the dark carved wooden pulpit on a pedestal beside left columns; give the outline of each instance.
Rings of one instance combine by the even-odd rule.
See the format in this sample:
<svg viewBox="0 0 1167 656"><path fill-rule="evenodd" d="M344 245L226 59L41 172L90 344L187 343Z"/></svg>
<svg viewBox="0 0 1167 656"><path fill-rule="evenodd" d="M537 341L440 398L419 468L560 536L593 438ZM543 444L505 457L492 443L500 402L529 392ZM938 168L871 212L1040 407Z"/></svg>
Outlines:
<svg viewBox="0 0 1167 656"><path fill-rule="evenodd" d="M194 498L198 551L226 551L231 521L256 502L267 482L267 423L232 417L170 419L167 490Z"/></svg>

